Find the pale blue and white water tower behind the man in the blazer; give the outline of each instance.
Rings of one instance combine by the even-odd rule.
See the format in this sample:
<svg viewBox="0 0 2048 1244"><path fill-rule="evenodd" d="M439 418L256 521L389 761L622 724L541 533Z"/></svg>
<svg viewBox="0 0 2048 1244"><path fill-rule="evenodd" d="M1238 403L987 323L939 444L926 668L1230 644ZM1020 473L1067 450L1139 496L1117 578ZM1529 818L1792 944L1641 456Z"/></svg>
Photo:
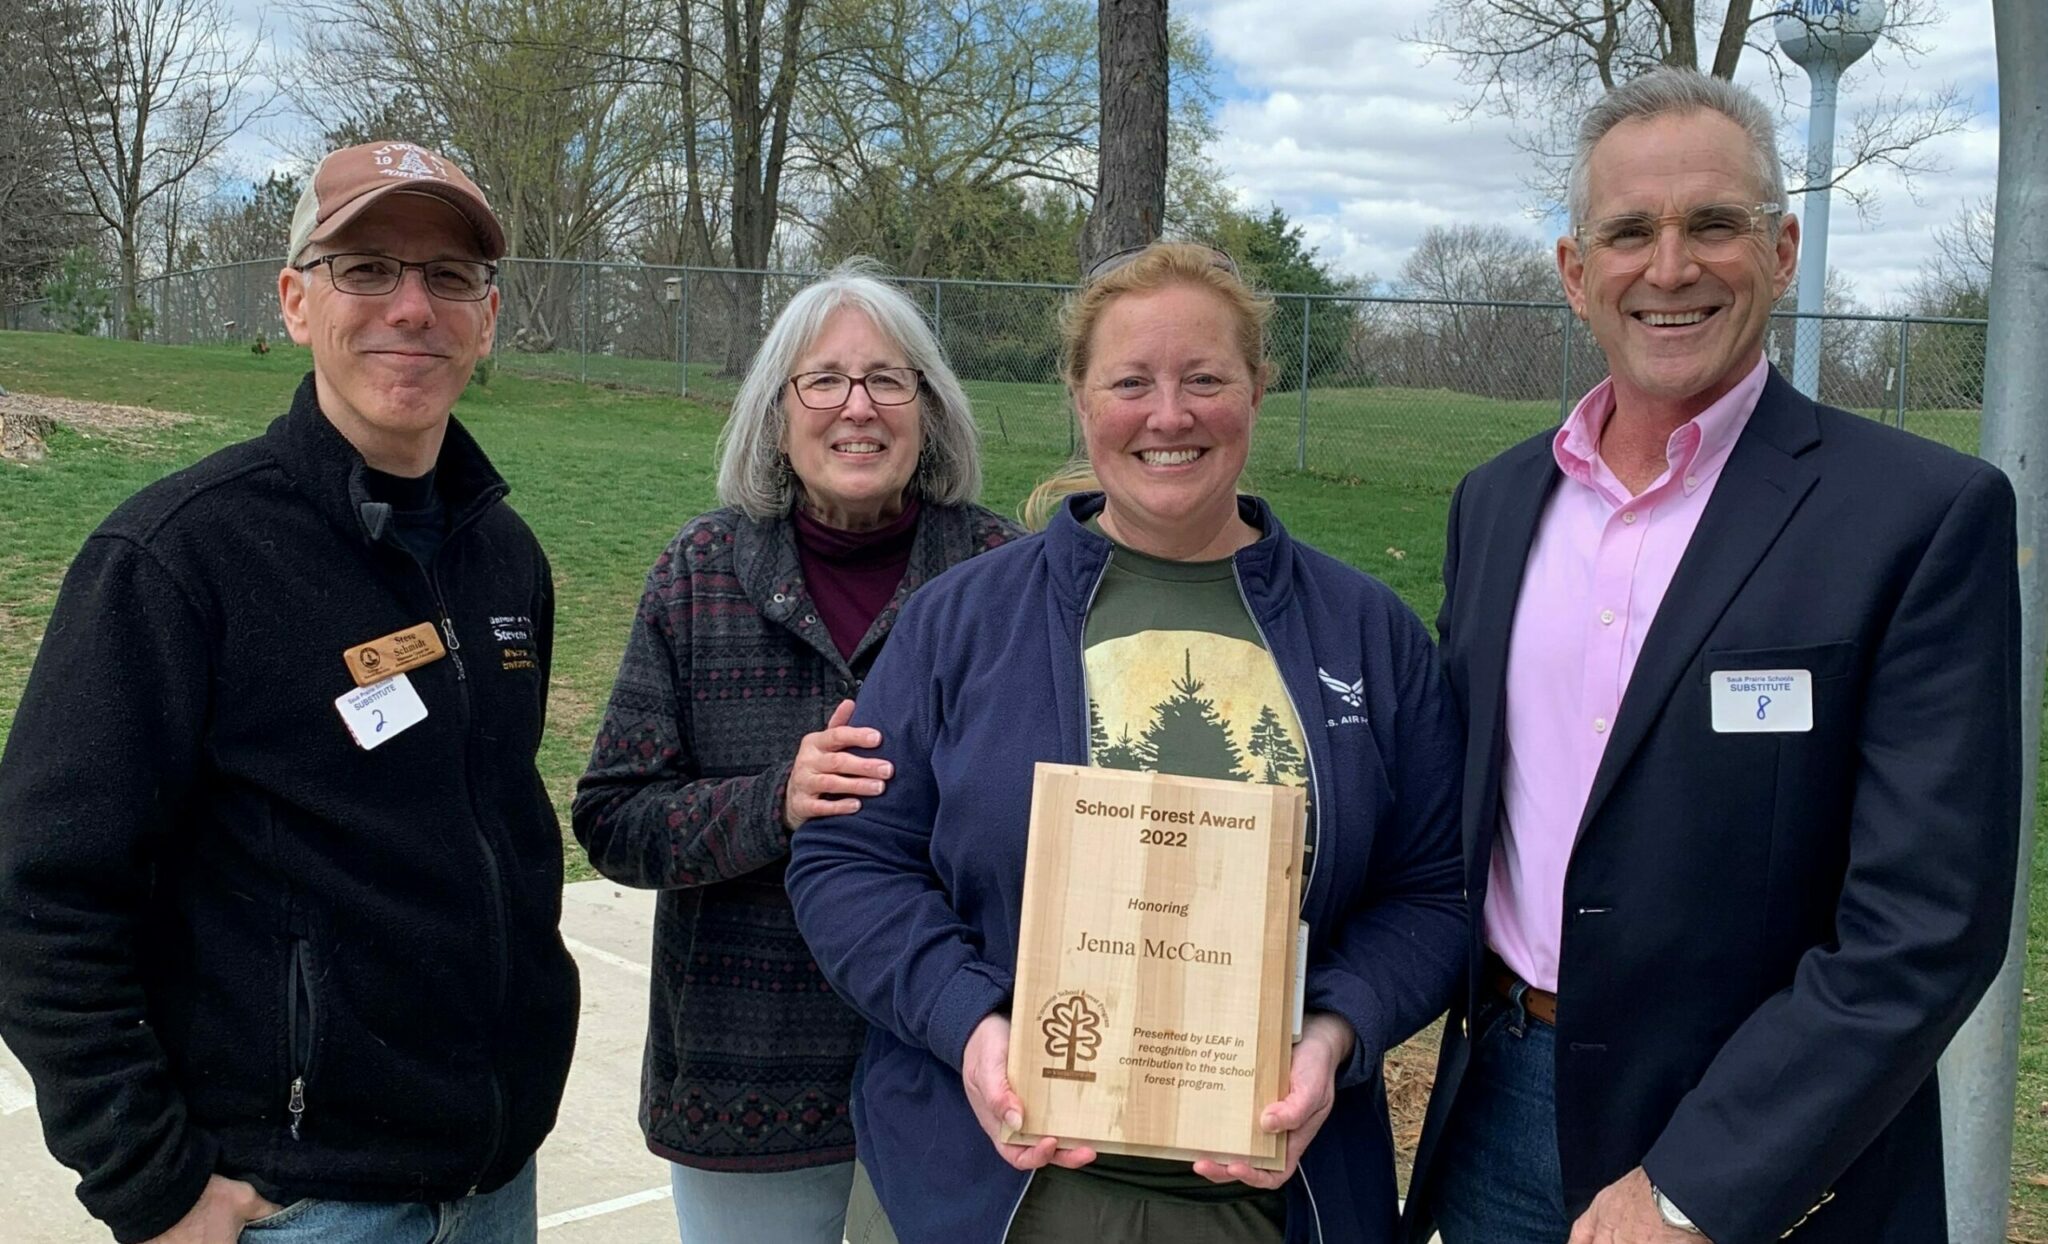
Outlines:
<svg viewBox="0 0 2048 1244"><path fill-rule="evenodd" d="M1884 0L1786 0L1774 31L1778 47L1812 80L1806 113L1806 203L1802 205L1798 309L1819 314L1827 291L1827 182L1835 176L1835 88L1841 72L1878 43ZM1800 320L1794 336L1792 383L1821 396L1821 322Z"/></svg>

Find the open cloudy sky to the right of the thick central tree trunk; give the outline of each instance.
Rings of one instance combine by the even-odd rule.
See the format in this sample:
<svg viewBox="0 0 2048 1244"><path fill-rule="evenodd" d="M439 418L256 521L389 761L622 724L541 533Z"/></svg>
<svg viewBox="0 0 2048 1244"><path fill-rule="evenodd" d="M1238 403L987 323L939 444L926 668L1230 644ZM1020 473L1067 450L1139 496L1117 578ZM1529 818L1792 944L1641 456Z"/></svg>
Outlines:
<svg viewBox="0 0 2048 1244"><path fill-rule="evenodd" d="M1886 172L1864 174L1874 207L1862 219L1835 197L1829 266L1847 273L1866 303L1907 285L1931 250L1929 234L1995 189L1991 0L1944 8L1942 25L1919 37L1927 55L1860 61L1843 84L1839 133L1858 100L1880 90L1954 84L1974 111L1964 133L1933 143L1939 176L1907 186ZM1456 66L1425 64L1405 41L1432 0L1176 0L1174 10L1208 35L1214 53L1223 131L1214 156L1231 189L1249 207L1278 203L1337 271L1393 279L1436 223L1503 223L1544 246L1554 238L1554 225L1530 213L1528 158L1509 141L1509 123L1460 119L1468 88ZM1776 98L1757 53L1737 78ZM1780 141L1804 152L1802 76L1794 96ZM1798 201L1792 207L1800 211Z"/></svg>

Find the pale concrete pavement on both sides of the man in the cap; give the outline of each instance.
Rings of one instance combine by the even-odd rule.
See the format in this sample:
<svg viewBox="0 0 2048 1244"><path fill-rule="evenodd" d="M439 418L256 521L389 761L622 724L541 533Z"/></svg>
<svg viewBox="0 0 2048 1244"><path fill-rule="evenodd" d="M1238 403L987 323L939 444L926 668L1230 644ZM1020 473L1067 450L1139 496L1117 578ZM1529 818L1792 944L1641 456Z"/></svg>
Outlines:
<svg viewBox="0 0 2048 1244"><path fill-rule="evenodd" d="M563 889L561 935L584 973L584 1019L561 1121L541 1148L543 1244L676 1244L668 1162L641 1142L641 1037L653 894L612 881ZM111 1240L74 1195L78 1178L43 1148L29 1076L0 1047L0 1189L8 1244Z"/></svg>

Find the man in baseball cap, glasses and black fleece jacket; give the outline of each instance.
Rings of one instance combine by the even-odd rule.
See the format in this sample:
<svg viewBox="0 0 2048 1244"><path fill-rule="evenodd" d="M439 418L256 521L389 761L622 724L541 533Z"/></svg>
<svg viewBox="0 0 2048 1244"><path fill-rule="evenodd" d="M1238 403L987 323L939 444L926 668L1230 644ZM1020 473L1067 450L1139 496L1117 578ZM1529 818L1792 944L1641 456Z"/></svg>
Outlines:
<svg viewBox="0 0 2048 1244"><path fill-rule="evenodd" d="M0 1035L115 1240L535 1238L578 1014L555 598L449 414L502 254L442 156L322 160L291 410L57 596L0 756Z"/></svg>

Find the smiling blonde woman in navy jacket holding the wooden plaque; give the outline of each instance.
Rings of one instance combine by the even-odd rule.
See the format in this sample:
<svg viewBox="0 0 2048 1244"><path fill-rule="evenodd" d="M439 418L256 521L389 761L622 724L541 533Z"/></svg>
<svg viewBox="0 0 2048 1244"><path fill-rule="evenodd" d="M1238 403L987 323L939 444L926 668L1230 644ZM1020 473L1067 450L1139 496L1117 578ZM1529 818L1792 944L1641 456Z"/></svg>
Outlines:
<svg viewBox="0 0 2048 1244"><path fill-rule="evenodd" d="M1204 246L1098 266L1063 316L1087 471L909 603L854 711L895 777L795 840L797 922L872 1025L856 1244L1395 1238L1378 1068L1464 961L1458 725L1393 590L1237 492L1268 314ZM1260 1119L1282 1170L1001 1144L1036 760L1307 789L1309 1017Z"/></svg>

